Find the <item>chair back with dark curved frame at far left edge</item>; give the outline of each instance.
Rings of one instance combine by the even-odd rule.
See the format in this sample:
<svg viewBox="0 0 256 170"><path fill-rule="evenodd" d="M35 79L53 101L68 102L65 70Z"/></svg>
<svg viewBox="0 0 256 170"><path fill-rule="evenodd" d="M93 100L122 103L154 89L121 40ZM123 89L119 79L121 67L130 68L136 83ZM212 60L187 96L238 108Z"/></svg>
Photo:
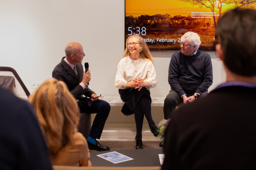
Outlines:
<svg viewBox="0 0 256 170"><path fill-rule="evenodd" d="M21 99L28 99L30 95L29 90L24 85L23 81L20 79L20 76L17 74L15 69L11 67L0 67L0 76L12 76L15 78L15 87L13 93L20 97Z"/></svg>

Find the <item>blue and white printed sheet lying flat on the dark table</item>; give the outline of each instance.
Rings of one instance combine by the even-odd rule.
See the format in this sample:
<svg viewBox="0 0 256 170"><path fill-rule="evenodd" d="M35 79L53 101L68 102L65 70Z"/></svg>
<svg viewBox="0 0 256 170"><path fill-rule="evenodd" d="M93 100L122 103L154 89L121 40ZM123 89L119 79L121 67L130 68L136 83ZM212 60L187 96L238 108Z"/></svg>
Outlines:
<svg viewBox="0 0 256 170"><path fill-rule="evenodd" d="M103 153L100 155L97 155L107 161L111 161L114 164L120 163L120 162L124 162L124 161L130 161L133 160L132 158L125 156L121 153L118 152L109 152L109 153Z"/></svg>

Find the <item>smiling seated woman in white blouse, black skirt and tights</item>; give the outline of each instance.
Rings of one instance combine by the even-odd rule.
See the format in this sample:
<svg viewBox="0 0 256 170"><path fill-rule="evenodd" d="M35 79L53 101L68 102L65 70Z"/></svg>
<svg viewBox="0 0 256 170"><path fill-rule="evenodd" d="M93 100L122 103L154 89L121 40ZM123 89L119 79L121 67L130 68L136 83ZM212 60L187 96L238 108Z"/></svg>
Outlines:
<svg viewBox="0 0 256 170"><path fill-rule="evenodd" d="M136 123L136 149L143 149L142 125L144 115L151 132L157 136L157 126L151 116L151 97L149 90L157 85L156 72L148 45L139 35L131 35L126 40L125 54L117 65L114 85L119 88L122 113L134 114Z"/></svg>

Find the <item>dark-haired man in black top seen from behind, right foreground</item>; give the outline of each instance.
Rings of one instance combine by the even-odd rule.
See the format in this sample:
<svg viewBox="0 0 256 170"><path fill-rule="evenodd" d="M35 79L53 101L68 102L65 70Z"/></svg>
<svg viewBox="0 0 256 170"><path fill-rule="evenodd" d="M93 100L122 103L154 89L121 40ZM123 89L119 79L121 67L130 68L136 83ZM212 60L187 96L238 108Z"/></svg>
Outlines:
<svg viewBox="0 0 256 170"><path fill-rule="evenodd" d="M218 20L226 82L181 106L166 128L162 170L256 170L256 11Z"/></svg>

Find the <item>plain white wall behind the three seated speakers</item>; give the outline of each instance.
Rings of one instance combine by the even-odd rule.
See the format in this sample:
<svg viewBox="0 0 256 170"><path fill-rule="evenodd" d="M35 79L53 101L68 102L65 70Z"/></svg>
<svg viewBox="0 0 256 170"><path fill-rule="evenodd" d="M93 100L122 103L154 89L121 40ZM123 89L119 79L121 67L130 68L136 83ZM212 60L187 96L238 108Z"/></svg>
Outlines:
<svg viewBox="0 0 256 170"><path fill-rule="evenodd" d="M61 61L68 42L80 42L89 62L90 88L119 96L113 86L116 65L124 53L124 0L0 0L0 66L14 68L29 89L44 82ZM169 93L168 67L174 52L153 51L158 85L151 96ZM215 52L213 85L224 81Z"/></svg>

